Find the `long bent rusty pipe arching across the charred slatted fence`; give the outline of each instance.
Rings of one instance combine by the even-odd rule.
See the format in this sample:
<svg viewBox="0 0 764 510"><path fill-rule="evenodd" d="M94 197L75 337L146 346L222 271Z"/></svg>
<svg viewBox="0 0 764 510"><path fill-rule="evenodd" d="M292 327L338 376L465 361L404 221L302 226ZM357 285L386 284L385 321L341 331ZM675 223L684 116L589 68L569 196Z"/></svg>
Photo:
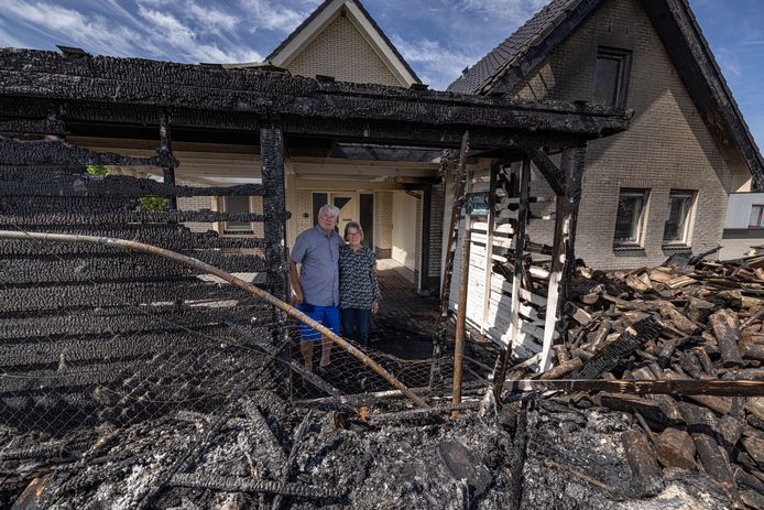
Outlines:
<svg viewBox="0 0 764 510"><path fill-rule="evenodd" d="M265 303L275 306L276 308L285 312L287 315L291 317L296 318L297 321L301 321L308 326L313 327L317 332L319 332L321 335L328 337L350 352L356 359L361 361L363 365L372 369L376 375L379 375L382 379L388 381L390 384L392 384L394 388L401 391L404 395L408 398L412 402L414 402L416 405L422 406L422 408L427 408L427 404L425 403L422 398L416 395L414 392L412 392L403 382L399 381L392 373L390 373L388 370L385 370L380 363L371 359L369 356L363 354L360 349L354 347L352 344L350 344L348 340L345 338L335 335L335 333L327 328L326 326L318 324L304 313L299 312L297 308L291 306L287 303L284 303L283 301L274 297L270 293L263 291L262 289L258 289L257 286L233 276L230 273L227 273L226 271L222 271L214 265L207 264L201 262L198 259L194 259L193 257L187 257L181 253L177 253L175 251L171 250L165 250L164 248L159 248L155 246L151 245L144 245L142 242L137 242L137 241L130 241L127 239L116 239L111 237L98 237L98 236L78 236L78 235L72 235L72 234L50 234L50 232L23 232L23 231L17 231L17 230L0 230L0 239L19 239L19 240L29 240L29 239L34 239L39 241L55 241L55 242L85 242L89 245L102 245L111 248L121 248L125 250L133 250L133 251L141 251L144 253L151 253L155 254L159 257L163 257L165 259L173 260L175 262L188 265L190 268L197 269L199 271L204 271L205 273L212 274L215 276L220 278L221 280L227 281L233 286L237 286L245 292L249 292L253 296L264 301Z"/></svg>

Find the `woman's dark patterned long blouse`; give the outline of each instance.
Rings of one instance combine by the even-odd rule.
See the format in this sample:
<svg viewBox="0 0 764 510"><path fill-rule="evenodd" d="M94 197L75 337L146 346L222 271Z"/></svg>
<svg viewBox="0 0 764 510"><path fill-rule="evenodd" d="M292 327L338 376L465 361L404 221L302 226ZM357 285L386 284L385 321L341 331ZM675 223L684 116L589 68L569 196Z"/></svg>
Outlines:
<svg viewBox="0 0 764 510"><path fill-rule="evenodd" d="M339 248L339 307L371 308L379 301L380 284L374 267L376 258L367 246L353 251L349 245Z"/></svg>

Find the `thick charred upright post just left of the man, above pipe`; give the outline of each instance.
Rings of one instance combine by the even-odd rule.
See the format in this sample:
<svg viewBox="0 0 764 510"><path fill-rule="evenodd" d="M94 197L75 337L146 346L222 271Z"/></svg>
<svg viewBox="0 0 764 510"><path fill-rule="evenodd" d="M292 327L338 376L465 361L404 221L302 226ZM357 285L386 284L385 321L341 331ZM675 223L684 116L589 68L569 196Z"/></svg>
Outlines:
<svg viewBox="0 0 764 510"><path fill-rule="evenodd" d="M271 293L280 300L286 294L286 223L284 196L284 137L279 126L260 129L260 158L265 195L263 196L263 215L265 241L265 260L268 261L268 284Z"/></svg>

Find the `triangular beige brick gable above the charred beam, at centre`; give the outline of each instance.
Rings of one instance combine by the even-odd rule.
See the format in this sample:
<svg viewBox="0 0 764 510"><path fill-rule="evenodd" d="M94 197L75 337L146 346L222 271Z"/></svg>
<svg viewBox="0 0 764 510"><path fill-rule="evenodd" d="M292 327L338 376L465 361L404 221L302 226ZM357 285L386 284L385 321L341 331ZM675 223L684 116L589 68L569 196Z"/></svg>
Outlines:
<svg viewBox="0 0 764 510"><path fill-rule="evenodd" d="M340 14L287 69L301 76L334 76L341 82L402 86L356 25Z"/></svg>

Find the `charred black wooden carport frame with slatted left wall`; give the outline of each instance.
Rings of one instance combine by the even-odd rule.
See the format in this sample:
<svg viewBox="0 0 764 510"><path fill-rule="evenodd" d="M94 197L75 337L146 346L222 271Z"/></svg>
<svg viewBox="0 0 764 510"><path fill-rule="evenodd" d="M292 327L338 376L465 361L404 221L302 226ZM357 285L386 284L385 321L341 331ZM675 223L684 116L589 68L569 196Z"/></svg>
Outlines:
<svg viewBox="0 0 764 510"><path fill-rule="evenodd" d="M242 395L260 389L294 399L290 373L301 368L288 349L295 325L279 310L206 278L210 271L203 265L123 251L108 239L168 249L230 272L254 270L264 275L258 281L262 289L285 299L291 213L285 147L454 150L461 153L461 175L469 154L489 153L507 164L525 161L526 177L528 153L541 158L543 148L554 147L565 154L560 169L549 166L560 193L560 229L566 226L556 248L555 274L561 274L565 260L574 260L576 186L586 143L626 129L629 118L612 107L514 102L69 50L0 50L0 413L9 444L19 446L10 455L58 452L56 438L80 427L112 431L109 436L119 438L123 427L150 419L220 413L200 424L203 433L172 465L146 471L160 478L124 495L132 501L124 504L135 508L167 485L196 484L184 475L171 478L195 465L208 444L205 437L227 423ZM148 154L131 155L134 147ZM258 181L187 185L178 176L183 152L190 148L204 148L195 154L204 164L244 160L240 164ZM195 160L186 163L193 171ZM118 171L92 174L88 165ZM450 174L454 166L445 166ZM139 198L156 196L167 198L165 208L139 206ZM177 207L183 199L212 196L258 196L262 209ZM199 223L255 223L262 234L228 237L197 231ZM95 236L95 241L51 242L54 238L45 239L51 234ZM550 292L563 283L552 279ZM399 362L385 359L378 365ZM411 367L399 371L405 379ZM357 373L364 373L365 388L378 384ZM314 395L341 397L305 377ZM353 388L346 391L358 391ZM40 437L45 438L42 451ZM98 448L90 440L80 443ZM130 469L132 462L118 464ZM17 485L28 481L26 475L14 475L3 495L17 497Z"/></svg>

